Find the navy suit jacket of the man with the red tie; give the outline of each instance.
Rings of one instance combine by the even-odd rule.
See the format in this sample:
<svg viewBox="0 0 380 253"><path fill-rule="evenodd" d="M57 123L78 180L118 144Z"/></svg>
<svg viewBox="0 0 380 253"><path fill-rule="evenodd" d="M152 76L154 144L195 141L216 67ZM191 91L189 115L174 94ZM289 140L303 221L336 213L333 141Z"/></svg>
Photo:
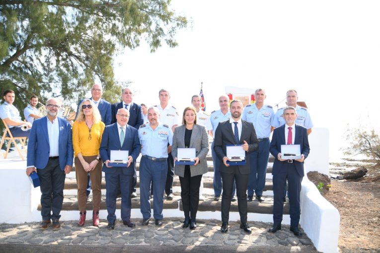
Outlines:
<svg viewBox="0 0 380 253"><path fill-rule="evenodd" d="M306 159L307 155L310 152L309 141L307 138L307 129L304 126L295 125L295 138L294 144L301 145L301 154L304 154L304 158ZM273 163L272 175L278 174L278 172L282 169L282 167L288 166L288 161L280 161L277 159L278 153L281 153L281 145L285 145L285 124L279 126L274 129L271 145L269 147L269 151L275 157L275 161ZM300 163L296 160L293 161L294 166L297 169L297 173L304 177L304 162Z"/></svg>

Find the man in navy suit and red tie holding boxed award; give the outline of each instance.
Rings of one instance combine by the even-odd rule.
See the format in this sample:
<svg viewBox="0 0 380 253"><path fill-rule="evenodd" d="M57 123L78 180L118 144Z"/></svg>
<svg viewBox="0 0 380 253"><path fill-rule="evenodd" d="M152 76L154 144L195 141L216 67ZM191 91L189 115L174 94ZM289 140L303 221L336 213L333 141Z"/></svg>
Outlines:
<svg viewBox="0 0 380 253"><path fill-rule="evenodd" d="M274 194L273 226L269 229L269 232L275 233L281 230L284 188L286 180L288 180L288 191L290 193L290 231L296 236L301 236L302 233L298 228L301 214L301 182L304 177L304 159L309 154L310 148L307 129L304 126L295 124L297 119L296 109L292 106L287 106L284 109L283 118L285 119L285 124L274 129L269 148L269 151L275 157L272 170ZM281 159L281 145L284 144L299 144L301 146L301 159Z"/></svg>

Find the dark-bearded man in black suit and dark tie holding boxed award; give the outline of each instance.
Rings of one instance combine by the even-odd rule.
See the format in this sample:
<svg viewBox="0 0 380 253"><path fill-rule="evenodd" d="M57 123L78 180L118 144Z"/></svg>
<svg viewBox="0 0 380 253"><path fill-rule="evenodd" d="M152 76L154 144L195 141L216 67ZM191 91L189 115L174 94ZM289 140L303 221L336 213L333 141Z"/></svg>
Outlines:
<svg viewBox="0 0 380 253"><path fill-rule="evenodd" d="M240 100L232 100L229 108L231 118L229 121L219 123L214 138L214 150L223 164L220 172L223 181L222 194L222 233L228 231L229 208L231 206L233 181L236 182L237 205L240 214L240 228L251 233L247 224L247 186L249 176L248 153L258 149L255 128L252 123L241 120L243 104ZM227 161L227 145L241 145L245 151L245 165L230 166Z"/></svg>

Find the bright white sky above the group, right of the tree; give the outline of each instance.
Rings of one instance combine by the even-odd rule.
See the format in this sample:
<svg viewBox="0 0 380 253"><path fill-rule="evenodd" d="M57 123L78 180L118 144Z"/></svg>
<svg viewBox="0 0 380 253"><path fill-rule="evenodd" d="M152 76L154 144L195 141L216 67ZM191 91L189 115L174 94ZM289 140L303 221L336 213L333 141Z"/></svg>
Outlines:
<svg viewBox="0 0 380 253"><path fill-rule="evenodd" d="M329 128L330 153L344 145L347 124L379 129L380 1L173 0L171 7L190 21L178 47L151 54L143 43L115 60L135 102L157 104L167 88L181 114L203 82L211 112L226 86L264 88L272 106L296 89L314 126Z"/></svg>

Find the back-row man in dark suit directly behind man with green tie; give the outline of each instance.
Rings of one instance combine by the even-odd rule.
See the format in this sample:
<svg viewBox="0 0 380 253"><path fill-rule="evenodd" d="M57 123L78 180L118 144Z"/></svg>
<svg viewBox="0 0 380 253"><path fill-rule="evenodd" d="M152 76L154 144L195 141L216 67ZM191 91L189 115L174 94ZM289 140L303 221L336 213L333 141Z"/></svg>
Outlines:
<svg viewBox="0 0 380 253"><path fill-rule="evenodd" d="M141 125L144 124L144 115L141 106L133 103L133 92L130 88L123 88L121 90L121 98L123 101L120 103L112 104L112 123L116 122L116 113L120 108L125 108L129 111L128 125L139 129ZM137 197L136 194L136 175L134 176L134 181L131 188L131 197Z"/></svg>

